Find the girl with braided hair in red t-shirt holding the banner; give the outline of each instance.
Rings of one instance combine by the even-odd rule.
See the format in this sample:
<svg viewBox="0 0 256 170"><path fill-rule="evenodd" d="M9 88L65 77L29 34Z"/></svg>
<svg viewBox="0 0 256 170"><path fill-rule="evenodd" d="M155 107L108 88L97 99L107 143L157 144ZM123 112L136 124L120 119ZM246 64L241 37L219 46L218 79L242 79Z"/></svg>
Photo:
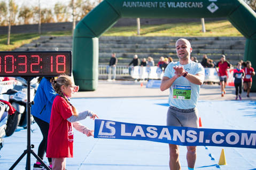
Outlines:
<svg viewBox="0 0 256 170"><path fill-rule="evenodd" d="M71 77L59 76L52 86L59 95L52 104L46 157L52 158L52 169L64 170L66 158L73 158L73 127L87 136L94 136L94 131L77 121L98 116L89 110L77 114L69 98L79 87L74 85Z"/></svg>

